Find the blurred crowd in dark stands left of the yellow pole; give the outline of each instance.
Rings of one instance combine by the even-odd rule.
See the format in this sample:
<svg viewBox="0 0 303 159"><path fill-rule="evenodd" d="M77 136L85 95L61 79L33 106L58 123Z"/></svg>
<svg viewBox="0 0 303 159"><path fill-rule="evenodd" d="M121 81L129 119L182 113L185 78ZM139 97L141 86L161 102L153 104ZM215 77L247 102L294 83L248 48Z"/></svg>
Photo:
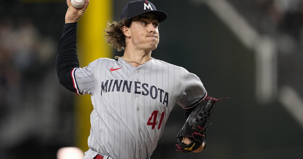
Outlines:
<svg viewBox="0 0 303 159"><path fill-rule="evenodd" d="M16 157L16 149L57 151L74 141L72 94L55 72L59 39L26 17L0 19L0 158Z"/></svg>

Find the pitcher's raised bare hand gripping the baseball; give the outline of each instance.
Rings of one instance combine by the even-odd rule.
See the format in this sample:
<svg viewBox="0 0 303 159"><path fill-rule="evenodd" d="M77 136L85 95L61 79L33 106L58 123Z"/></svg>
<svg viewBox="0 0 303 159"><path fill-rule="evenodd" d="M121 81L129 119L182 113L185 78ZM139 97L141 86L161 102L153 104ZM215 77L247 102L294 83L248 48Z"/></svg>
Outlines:
<svg viewBox="0 0 303 159"><path fill-rule="evenodd" d="M82 8L73 7L71 0L66 0L66 4L68 6L68 9L65 15L65 23L75 23L78 22L84 14L86 8L88 7L89 0L85 0L85 4Z"/></svg>

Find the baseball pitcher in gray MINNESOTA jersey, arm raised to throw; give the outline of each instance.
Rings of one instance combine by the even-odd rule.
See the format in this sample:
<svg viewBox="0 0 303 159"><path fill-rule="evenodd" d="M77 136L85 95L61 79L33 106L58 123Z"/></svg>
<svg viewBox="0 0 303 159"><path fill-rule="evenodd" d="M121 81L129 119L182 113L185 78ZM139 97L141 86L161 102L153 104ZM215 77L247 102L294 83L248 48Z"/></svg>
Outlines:
<svg viewBox="0 0 303 159"><path fill-rule="evenodd" d="M123 56L99 58L79 68L76 52L78 20L85 13L67 0L68 10L56 57L60 83L76 94L89 94L93 111L88 151L83 159L148 159L173 106L185 110L187 121L177 135L177 150L205 148L206 122L215 104L201 80L185 68L151 57L167 14L149 1L129 2L119 22L108 22L106 41ZM89 8L88 8L89 9ZM88 52L89 54L89 52ZM177 152L176 152L177 153Z"/></svg>

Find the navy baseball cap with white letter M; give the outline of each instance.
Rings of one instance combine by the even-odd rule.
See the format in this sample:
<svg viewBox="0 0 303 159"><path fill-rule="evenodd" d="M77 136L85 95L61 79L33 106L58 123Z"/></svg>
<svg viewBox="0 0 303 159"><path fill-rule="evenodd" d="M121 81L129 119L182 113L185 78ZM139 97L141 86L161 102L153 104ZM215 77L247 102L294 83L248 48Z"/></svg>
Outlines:
<svg viewBox="0 0 303 159"><path fill-rule="evenodd" d="M167 14L158 11L151 2L146 0L138 0L129 2L121 12L120 20L123 18L132 19L141 14L152 14L158 18L158 22L163 22L167 18Z"/></svg>

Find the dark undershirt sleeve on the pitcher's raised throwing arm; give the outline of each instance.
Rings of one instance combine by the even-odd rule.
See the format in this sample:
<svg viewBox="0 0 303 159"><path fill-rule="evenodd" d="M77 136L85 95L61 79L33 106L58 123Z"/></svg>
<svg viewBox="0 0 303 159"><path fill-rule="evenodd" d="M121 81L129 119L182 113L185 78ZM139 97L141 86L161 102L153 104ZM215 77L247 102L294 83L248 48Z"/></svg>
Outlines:
<svg viewBox="0 0 303 159"><path fill-rule="evenodd" d="M62 37L56 56L56 70L59 82L65 88L76 92L72 81L72 69L79 67L77 56L77 27L78 22L64 24Z"/></svg>

